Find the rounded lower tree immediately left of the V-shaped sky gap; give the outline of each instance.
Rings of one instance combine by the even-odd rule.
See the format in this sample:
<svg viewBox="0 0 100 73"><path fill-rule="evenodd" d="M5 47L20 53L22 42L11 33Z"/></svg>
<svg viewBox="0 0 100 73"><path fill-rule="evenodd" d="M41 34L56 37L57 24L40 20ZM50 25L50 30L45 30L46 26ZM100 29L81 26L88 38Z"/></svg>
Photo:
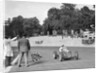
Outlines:
<svg viewBox="0 0 100 73"><path fill-rule="evenodd" d="M36 17L24 19L23 28L28 36L32 36L35 33L39 34L41 31L39 20Z"/></svg>

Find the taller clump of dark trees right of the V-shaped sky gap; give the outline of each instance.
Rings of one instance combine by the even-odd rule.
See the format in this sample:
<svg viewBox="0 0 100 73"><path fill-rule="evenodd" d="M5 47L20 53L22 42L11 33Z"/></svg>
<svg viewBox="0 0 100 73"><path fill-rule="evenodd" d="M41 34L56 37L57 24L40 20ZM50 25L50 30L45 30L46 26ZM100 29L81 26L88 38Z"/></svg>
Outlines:
<svg viewBox="0 0 100 73"><path fill-rule="evenodd" d="M76 9L75 4L63 3L60 9L51 8L48 11L48 18L45 19L43 27L45 31L52 32L57 30L78 31L80 29L91 29L90 25L95 26L95 11L87 6ZM51 33L52 34L52 33Z"/></svg>

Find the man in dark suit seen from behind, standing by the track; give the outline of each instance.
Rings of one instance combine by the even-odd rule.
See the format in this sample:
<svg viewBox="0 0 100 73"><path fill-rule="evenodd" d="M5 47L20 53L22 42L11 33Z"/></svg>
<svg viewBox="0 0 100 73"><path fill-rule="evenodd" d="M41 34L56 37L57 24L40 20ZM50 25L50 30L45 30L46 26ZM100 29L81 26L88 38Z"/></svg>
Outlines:
<svg viewBox="0 0 100 73"><path fill-rule="evenodd" d="M26 39L25 34L20 35L20 39L18 40L18 50L20 54L20 57L18 60L18 66L21 67L21 61L24 56L25 66L27 67L28 66L27 59L28 59L28 53L30 50L30 43L29 43L29 40Z"/></svg>

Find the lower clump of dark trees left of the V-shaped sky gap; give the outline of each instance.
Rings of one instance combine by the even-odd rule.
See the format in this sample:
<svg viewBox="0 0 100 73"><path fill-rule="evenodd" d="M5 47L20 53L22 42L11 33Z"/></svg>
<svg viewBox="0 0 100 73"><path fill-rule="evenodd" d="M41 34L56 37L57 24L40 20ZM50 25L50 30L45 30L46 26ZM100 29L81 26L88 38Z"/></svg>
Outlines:
<svg viewBox="0 0 100 73"><path fill-rule="evenodd" d="M14 17L12 21L5 22L5 37L14 37L22 33L32 36L41 31L39 20L34 18Z"/></svg>

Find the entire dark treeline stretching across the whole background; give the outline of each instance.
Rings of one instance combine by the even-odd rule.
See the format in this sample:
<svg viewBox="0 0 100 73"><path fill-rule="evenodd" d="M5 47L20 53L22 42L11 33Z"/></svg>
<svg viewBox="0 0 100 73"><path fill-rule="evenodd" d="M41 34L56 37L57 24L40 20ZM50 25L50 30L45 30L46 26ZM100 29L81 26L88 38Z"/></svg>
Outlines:
<svg viewBox="0 0 100 73"><path fill-rule="evenodd" d="M23 18L22 16L9 18L5 21L5 36L16 36L20 33L26 33L27 36L35 34L52 35L53 30L58 34L62 34L63 30L67 30L70 34L71 30L79 32L80 29L95 30L95 10L90 10L87 6L76 9L75 4L63 3L60 9L51 8L48 10L48 17L40 25L36 17ZM95 5L94 9L95 9ZM91 27L91 25L93 27Z"/></svg>

